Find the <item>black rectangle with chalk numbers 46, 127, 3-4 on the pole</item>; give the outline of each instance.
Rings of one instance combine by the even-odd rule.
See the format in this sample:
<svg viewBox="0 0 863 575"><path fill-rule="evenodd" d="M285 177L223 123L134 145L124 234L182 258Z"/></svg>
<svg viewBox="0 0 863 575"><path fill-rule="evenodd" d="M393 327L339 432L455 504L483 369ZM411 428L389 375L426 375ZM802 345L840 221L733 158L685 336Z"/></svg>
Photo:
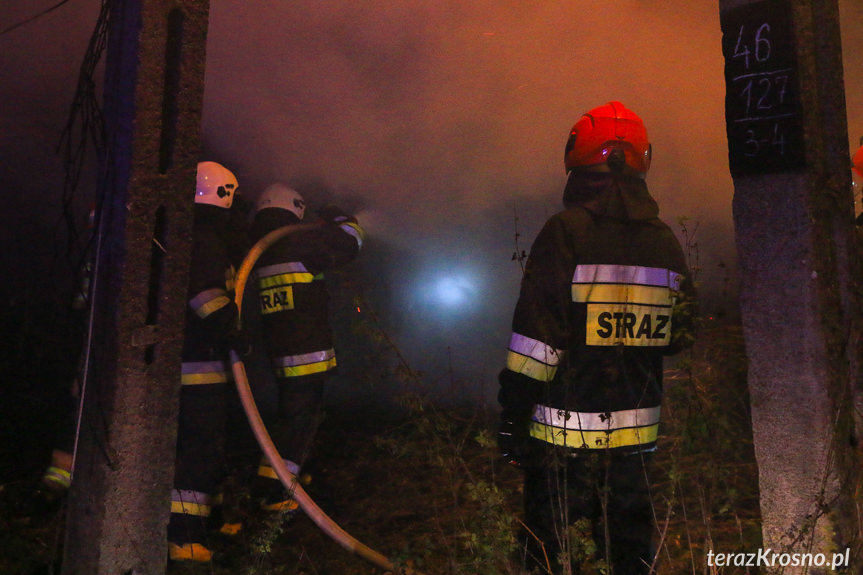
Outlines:
<svg viewBox="0 0 863 575"><path fill-rule="evenodd" d="M732 175L803 168L806 153L788 2L738 6L721 14L721 24Z"/></svg>

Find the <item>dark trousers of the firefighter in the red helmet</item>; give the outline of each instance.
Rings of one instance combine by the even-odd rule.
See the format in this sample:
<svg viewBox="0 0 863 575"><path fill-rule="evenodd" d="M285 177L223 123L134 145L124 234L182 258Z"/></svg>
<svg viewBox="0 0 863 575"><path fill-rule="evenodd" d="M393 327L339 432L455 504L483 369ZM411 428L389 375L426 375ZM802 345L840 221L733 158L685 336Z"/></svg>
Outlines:
<svg viewBox="0 0 863 575"><path fill-rule="evenodd" d="M531 554L544 564L542 542L553 569L569 561L573 573L592 572L589 565L604 558L609 574L649 573L650 457L601 451L558 456L546 466L525 469L525 525L532 532L525 534L525 544ZM588 556L591 544L598 557Z"/></svg>

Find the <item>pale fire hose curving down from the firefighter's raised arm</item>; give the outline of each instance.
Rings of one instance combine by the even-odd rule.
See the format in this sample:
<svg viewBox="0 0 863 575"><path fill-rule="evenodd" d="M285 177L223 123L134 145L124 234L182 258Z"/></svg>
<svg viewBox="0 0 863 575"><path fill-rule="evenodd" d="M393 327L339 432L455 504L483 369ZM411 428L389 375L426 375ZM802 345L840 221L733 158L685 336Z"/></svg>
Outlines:
<svg viewBox="0 0 863 575"><path fill-rule="evenodd" d="M240 266L240 269L237 272L237 276L234 281L236 290L234 300L236 301L237 309L240 310L240 319L237 320L238 324L240 323L242 318L243 294L246 287L246 282L249 279L249 274L251 273L252 268L255 266L258 258L261 257L261 254L263 254L275 242L289 234L309 231L317 229L318 227L319 226L317 224L284 226L268 233L263 238L258 240L258 242L254 246L252 246L252 249L249 250L249 253L243 260L243 263ZM270 462L270 465L275 470L276 475L282 482L282 485L284 485L285 488L290 493L292 493L293 498L297 501L300 508L306 513L306 515L324 533L326 533L331 539L341 545L344 549L350 551L351 553L359 555L361 558L383 569L384 571L395 572L399 575L422 575L421 573L409 568L396 568L393 563L384 555L378 553L374 549L371 549L367 545L358 541L350 533L342 529L320 507L318 507L317 503L315 503L311 497L309 497L308 493L306 493L306 491L299 484L296 476L291 473L291 471L285 465L285 461L282 459L281 455L279 455L278 449L273 444L273 440L270 438L270 434L267 431L266 426L264 425L263 419L261 418L261 413L260 411L258 411L258 407L255 404L252 390L249 387L249 380L246 376L246 366L243 364L243 361L240 359L239 355L234 350L231 350L230 358L231 370L234 374L234 382L237 385L237 391L240 395L240 401L243 405L243 410L246 412L246 417L249 420L249 425L251 425L252 431L255 434L255 439L257 439L261 450L264 452L264 455Z"/></svg>

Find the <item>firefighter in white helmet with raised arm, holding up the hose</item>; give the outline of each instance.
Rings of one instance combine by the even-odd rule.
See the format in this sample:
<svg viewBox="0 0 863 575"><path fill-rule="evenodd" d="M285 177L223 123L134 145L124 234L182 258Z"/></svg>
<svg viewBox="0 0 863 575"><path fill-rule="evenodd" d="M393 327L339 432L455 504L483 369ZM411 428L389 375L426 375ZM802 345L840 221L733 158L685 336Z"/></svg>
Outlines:
<svg viewBox="0 0 863 575"><path fill-rule="evenodd" d="M296 190L281 183L269 186L255 204L253 241L300 224L305 212L305 200ZM324 382L336 368L324 271L352 261L363 242L355 217L333 206L318 215L319 226L285 236L264 252L254 273L261 335L278 386L276 421L270 433L295 475L314 440ZM297 508L266 458L261 458L255 483L264 509L291 512Z"/></svg>

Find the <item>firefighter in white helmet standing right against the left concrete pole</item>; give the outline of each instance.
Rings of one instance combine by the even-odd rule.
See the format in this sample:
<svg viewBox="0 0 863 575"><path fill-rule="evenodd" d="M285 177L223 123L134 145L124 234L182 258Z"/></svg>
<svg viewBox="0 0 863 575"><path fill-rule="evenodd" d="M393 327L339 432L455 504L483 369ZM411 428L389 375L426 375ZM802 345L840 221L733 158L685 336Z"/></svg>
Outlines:
<svg viewBox="0 0 863 575"><path fill-rule="evenodd" d="M230 208L237 178L216 162L198 164L192 259L177 428L169 557L208 562L207 517L221 480L230 368L227 351L246 355L234 303Z"/></svg>

